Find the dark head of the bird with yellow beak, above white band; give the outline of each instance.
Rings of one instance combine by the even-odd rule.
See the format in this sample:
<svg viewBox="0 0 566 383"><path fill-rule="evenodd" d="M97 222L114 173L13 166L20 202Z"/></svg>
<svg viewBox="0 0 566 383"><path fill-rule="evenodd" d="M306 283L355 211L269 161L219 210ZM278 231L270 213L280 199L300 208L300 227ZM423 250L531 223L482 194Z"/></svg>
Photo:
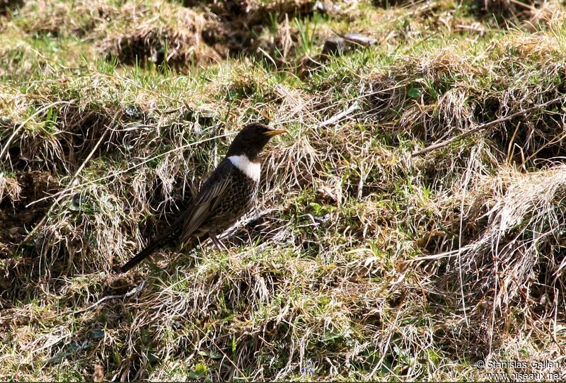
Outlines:
<svg viewBox="0 0 566 383"><path fill-rule="evenodd" d="M254 161L272 137L284 132L283 129L272 129L259 122L248 124L234 137L226 156L246 154L250 161Z"/></svg>

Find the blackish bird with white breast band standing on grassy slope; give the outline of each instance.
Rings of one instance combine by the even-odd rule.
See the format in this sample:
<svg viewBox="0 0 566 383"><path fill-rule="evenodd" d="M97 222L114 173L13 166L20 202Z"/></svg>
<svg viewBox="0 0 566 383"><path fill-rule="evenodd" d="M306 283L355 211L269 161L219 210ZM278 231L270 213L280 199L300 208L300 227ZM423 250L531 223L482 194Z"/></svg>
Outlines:
<svg viewBox="0 0 566 383"><path fill-rule="evenodd" d="M143 261L157 248L178 239L180 246L192 246L208 237L217 248L216 234L228 229L253 206L260 184L260 154L269 140L284 133L254 122L236 135L226 157L204 181L192 205L175 219L163 234L151 241L125 265L122 273Z"/></svg>

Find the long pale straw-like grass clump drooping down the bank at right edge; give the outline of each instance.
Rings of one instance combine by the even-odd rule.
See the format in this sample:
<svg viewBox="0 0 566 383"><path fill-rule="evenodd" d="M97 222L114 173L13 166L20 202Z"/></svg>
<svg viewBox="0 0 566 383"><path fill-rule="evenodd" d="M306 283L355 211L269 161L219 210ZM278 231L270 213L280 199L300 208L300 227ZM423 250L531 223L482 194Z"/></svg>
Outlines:
<svg viewBox="0 0 566 383"><path fill-rule="evenodd" d="M548 319L563 309L557 300L563 288L563 178L562 166L522 174L507 169L478 178L466 191L464 224L487 224L452 253L443 280L461 285L463 308L490 344L518 307L543 324L543 333L555 333Z"/></svg>

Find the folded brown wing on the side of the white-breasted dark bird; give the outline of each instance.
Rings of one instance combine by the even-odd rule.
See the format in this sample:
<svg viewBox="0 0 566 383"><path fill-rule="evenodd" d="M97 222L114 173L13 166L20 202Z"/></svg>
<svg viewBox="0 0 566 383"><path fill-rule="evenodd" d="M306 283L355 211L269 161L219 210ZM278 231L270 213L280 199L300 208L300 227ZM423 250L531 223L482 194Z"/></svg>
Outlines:
<svg viewBox="0 0 566 383"><path fill-rule="evenodd" d="M192 207L187 210L185 215L183 234L180 236L181 244L187 243L190 236L209 217L218 202L224 198L226 188L231 182L232 167L230 165L229 160L224 160L207 181L202 184L195 202L192 203Z"/></svg>

